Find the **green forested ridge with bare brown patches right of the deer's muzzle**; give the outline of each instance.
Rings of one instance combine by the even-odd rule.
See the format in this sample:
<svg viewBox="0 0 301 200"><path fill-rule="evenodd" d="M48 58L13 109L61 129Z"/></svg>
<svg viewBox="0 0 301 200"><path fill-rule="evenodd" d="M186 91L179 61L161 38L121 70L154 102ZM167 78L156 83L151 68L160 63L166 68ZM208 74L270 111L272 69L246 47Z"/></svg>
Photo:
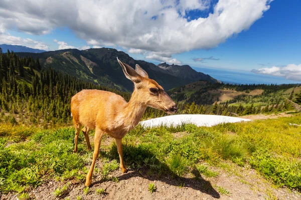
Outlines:
<svg viewBox="0 0 301 200"><path fill-rule="evenodd" d="M275 105L285 101L283 96L293 96L301 91L300 84L225 84L196 81L173 88L168 93L183 103L232 105ZM293 97L291 97L293 99ZM297 101L296 101L297 102Z"/></svg>

